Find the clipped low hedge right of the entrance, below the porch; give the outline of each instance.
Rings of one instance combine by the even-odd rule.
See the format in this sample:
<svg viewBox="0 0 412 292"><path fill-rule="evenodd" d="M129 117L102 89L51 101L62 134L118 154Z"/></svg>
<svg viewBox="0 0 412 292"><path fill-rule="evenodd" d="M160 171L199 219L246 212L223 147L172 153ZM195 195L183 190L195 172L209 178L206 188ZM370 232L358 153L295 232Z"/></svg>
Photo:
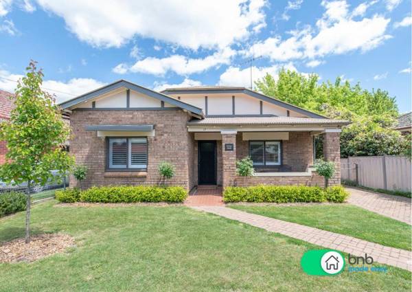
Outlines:
<svg viewBox="0 0 412 292"><path fill-rule="evenodd" d="M345 201L348 193L341 186L328 189L317 186L252 186L249 188L228 187L223 192L225 203L298 203Z"/></svg>

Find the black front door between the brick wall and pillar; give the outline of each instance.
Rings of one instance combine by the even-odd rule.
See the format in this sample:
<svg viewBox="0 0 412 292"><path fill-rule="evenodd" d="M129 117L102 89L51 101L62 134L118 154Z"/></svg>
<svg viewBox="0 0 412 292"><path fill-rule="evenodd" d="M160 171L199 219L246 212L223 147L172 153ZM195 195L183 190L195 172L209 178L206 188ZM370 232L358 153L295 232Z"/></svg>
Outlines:
<svg viewBox="0 0 412 292"><path fill-rule="evenodd" d="M198 142L199 185L216 185L216 141Z"/></svg>

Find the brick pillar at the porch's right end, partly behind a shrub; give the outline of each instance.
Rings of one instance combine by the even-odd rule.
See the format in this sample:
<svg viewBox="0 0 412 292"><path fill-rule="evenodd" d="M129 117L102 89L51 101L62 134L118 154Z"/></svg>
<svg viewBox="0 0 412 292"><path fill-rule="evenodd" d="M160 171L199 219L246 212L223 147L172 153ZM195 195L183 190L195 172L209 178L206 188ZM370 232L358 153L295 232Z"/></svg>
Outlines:
<svg viewBox="0 0 412 292"><path fill-rule="evenodd" d="M341 184L341 133L326 132L323 134L323 156L326 161L335 164L334 176L329 180L329 186Z"/></svg>

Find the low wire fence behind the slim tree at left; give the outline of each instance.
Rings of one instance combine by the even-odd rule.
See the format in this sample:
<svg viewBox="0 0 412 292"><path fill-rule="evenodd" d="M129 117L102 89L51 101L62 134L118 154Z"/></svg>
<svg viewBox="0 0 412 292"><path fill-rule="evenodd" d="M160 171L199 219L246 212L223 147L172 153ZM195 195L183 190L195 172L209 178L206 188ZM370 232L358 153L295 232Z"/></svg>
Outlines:
<svg viewBox="0 0 412 292"><path fill-rule="evenodd" d="M45 186L30 186L30 194L32 195L32 201L40 201L47 198L54 197L54 192L66 188L67 178L63 178L61 181L50 181ZM22 184L19 186L0 186L0 196L1 194L7 192L23 192L27 194L29 192L27 184Z"/></svg>

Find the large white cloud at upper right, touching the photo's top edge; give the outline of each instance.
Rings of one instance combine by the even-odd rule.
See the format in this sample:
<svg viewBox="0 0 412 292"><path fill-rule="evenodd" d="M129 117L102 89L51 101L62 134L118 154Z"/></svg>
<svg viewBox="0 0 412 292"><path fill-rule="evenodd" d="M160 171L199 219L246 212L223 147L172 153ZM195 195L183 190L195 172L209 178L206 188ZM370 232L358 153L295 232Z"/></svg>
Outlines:
<svg viewBox="0 0 412 292"><path fill-rule="evenodd" d="M390 19L374 15L358 21L352 19L346 1L322 1L325 13L315 27L307 25L290 32L290 38L266 38L252 45L246 56L262 55L273 61L299 58L321 58L330 54L346 54L355 50L367 52L391 38L385 34Z"/></svg>

